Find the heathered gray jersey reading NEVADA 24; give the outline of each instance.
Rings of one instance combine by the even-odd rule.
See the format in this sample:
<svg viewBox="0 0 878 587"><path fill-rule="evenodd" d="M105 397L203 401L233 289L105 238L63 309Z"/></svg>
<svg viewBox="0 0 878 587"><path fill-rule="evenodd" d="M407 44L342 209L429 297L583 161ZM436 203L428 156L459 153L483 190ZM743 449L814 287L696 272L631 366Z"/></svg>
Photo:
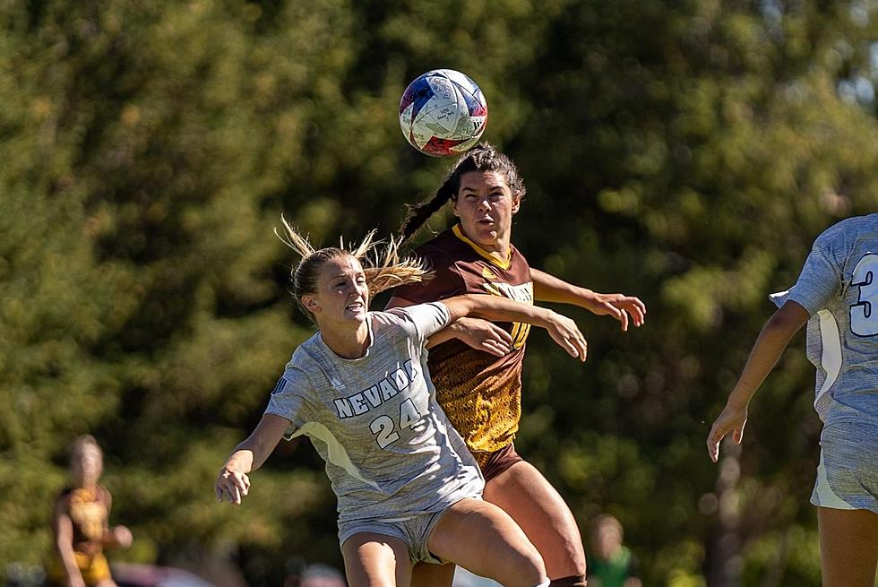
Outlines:
<svg viewBox="0 0 878 587"><path fill-rule="evenodd" d="M337 356L320 333L301 344L266 413L289 419L326 462L339 520L438 512L484 487L478 465L435 401L426 338L449 321L440 302L369 312L366 356Z"/></svg>

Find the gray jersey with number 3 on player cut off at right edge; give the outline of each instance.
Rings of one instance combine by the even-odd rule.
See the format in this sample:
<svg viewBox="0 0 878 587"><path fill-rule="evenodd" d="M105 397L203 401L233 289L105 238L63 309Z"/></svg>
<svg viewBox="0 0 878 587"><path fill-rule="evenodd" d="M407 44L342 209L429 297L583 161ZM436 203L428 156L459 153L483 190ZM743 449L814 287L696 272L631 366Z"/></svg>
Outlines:
<svg viewBox="0 0 878 587"><path fill-rule="evenodd" d="M823 232L796 285L771 298L795 300L811 315L807 352L823 423L878 424L878 214Z"/></svg>

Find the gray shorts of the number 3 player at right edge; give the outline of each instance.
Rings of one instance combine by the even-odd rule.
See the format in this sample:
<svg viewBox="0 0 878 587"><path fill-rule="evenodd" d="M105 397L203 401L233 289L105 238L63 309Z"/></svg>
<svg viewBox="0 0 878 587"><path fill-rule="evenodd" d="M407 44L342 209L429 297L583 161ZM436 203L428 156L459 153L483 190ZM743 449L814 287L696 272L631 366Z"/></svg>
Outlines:
<svg viewBox="0 0 878 587"><path fill-rule="evenodd" d="M811 503L878 514L878 428L860 422L823 427Z"/></svg>

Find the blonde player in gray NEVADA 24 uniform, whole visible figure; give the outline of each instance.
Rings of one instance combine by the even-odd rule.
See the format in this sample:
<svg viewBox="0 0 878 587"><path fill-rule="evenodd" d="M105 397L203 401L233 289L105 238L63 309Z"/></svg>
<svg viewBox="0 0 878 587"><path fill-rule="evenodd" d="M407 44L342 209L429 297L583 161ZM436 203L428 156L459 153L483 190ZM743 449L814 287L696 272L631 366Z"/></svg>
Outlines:
<svg viewBox="0 0 878 587"><path fill-rule="evenodd" d="M537 324L573 357L585 340L551 310L493 296L461 296L369 312L372 295L416 281L393 243L366 270L371 236L349 251L311 248L292 275L297 301L319 328L293 353L263 419L220 470L216 494L239 504L283 436L309 436L338 497L339 540L353 587L411 583L417 561L452 561L513 587L548 585L542 558L499 507L480 499L484 480L435 401L426 339L464 315Z"/></svg>

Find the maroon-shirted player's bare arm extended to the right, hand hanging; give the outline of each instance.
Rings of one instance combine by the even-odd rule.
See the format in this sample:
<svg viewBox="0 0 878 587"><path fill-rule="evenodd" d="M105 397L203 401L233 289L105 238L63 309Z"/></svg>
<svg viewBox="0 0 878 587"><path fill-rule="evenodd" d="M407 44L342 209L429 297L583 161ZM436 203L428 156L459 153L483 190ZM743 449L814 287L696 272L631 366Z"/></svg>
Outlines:
<svg viewBox="0 0 878 587"><path fill-rule="evenodd" d="M559 302L580 306L597 315L611 315L628 331L628 324L641 326L646 316L646 304L640 298L621 293L602 294L591 289L560 280L554 275L538 269L530 269L533 281L534 298L543 302Z"/></svg>

